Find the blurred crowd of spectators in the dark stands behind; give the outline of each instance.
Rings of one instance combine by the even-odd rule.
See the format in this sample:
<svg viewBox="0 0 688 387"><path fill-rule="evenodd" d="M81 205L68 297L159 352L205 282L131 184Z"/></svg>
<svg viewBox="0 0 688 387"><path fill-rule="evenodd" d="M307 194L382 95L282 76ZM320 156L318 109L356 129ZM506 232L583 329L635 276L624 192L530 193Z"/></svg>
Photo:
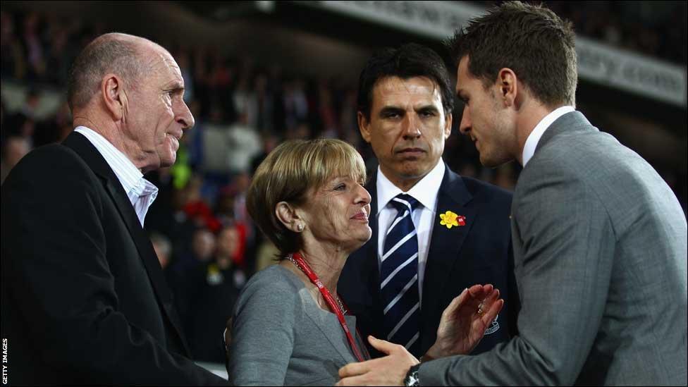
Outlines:
<svg viewBox="0 0 688 387"><path fill-rule="evenodd" d="M571 18L582 35L686 63L685 24L680 20L648 22L633 7L592 3L549 5ZM668 17L680 18L677 13ZM66 102L48 115L39 112L39 102L44 93L63 94L73 59L103 32L104 25L78 18L1 12L2 80L26 90L12 111L3 90L3 180L30 149L58 142L73 129ZM209 49L168 49L182 70L185 100L196 125L185 133L176 164L146 176L159 188L146 229L175 293L193 355L224 362L219 333L235 297L247 278L274 262L276 254L245 207L245 192L260 161L284 140L313 137L349 142L359 149L369 172L376 170L376 161L357 129L355 85L307 79L274 63L264 66L250 57L232 59ZM451 168L514 188L518 166L491 170L481 168L477 159L471 142L450 136L444 160Z"/></svg>

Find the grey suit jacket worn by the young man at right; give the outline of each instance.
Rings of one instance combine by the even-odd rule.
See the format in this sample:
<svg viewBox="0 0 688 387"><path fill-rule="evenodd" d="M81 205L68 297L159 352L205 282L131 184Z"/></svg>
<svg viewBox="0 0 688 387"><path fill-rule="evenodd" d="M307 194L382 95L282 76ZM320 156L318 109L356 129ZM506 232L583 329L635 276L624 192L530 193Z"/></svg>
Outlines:
<svg viewBox="0 0 688 387"><path fill-rule="evenodd" d="M512 238L520 336L423 364L423 385L686 385L686 219L644 159L565 114L521 173Z"/></svg>

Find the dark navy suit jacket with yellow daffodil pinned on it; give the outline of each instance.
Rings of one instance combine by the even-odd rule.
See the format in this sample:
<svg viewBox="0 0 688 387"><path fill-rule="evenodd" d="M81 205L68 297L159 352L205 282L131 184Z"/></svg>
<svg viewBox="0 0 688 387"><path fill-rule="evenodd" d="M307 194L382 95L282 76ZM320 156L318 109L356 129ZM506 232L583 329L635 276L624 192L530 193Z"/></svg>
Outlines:
<svg viewBox="0 0 688 387"><path fill-rule="evenodd" d="M372 197L370 240L348 258L337 290L356 315L363 337L383 335L383 305L377 257L376 174L366 185ZM510 192L472 178L462 178L447 167L438 192L437 218L426 262L421 304L420 352L423 355L437 337L443 310L464 288L491 283L505 300L497 324L473 353L484 352L515 334L518 294L513 274L510 232ZM440 225L439 214L453 211L466 217L466 225L451 229ZM366 340L367 343L367 340ZM369 347L371 355L380 353Z"/></svg>

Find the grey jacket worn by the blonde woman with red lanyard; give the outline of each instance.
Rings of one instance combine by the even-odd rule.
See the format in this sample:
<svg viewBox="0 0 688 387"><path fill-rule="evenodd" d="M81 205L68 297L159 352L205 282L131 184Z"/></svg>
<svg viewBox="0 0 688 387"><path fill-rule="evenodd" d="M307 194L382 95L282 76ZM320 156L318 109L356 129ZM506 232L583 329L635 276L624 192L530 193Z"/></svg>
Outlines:
<svg viewBox="0 0 688 387"><path fill-rule="evenodd" d="M234 386L332 386L340 367L357 362L336 314L321 309L282 266L248 281L233 318L228 374ZM356 317L345 319L356 333Z"/></svg>

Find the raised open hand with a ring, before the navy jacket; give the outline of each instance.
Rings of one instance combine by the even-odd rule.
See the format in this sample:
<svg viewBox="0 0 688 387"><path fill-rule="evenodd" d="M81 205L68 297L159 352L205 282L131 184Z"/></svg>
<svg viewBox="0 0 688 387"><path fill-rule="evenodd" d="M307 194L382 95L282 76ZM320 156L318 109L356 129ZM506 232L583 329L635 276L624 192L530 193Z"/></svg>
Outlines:
<svg viewBox="0 0 688 387"><path fill-rule="evenodd" d="M437 339L422 360L469 354L503 306L499 290L492 285L473 285L465 289L444 309Z"/></svg>

